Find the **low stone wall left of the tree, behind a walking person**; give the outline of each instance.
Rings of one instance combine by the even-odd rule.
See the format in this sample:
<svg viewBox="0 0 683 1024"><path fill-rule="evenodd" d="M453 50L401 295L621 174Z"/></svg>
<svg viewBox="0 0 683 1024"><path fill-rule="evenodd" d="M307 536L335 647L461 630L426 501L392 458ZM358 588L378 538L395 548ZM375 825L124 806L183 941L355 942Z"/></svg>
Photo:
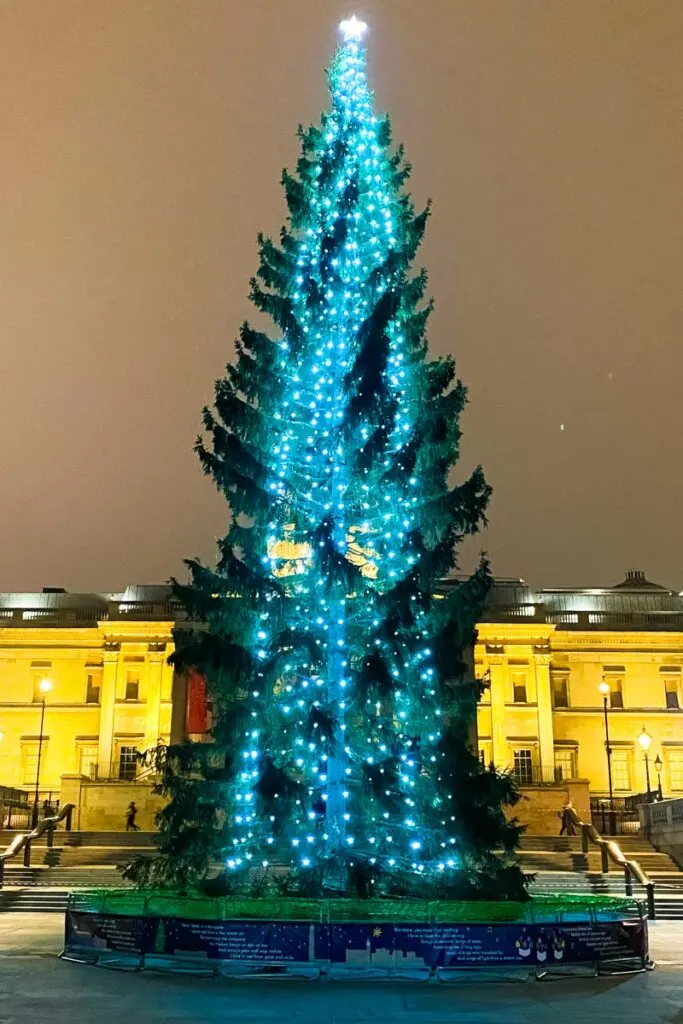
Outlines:
<svg viewBox="0 0 683 1024"><path fill-rule="evenodd" d="M164 806L162 797L152 792L150 783L97 782L83 775L63 775L60 804L75 804L73 827L83 831L124 831L126 809L131 801L137 807L137 824L142 831L155 831L155 817Z"/></svg>

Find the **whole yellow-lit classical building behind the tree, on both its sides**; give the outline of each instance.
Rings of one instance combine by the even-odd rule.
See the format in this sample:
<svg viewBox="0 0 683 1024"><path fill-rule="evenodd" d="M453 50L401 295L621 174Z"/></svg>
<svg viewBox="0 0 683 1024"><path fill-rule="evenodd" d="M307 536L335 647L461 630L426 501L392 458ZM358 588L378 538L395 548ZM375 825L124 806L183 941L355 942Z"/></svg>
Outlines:
<svg viewBox="0 0 683 1024"><path fill-rule="evenodd" d="M284 556L279 552L279 556ZM287 553L287 557L305 552ZM445 582L443 589L455 585ZM164 587L119 595L0 595L0 785L33 790L45 694L40 790L65 775L132 777L135 750L179 738L185 688L168 666L176 609ZM606 683L614 797L683 794L683 600L632 574L609 590L531 592L500 582L479 625L475 668L485 761L526 786L588 780L606 796ZM175 698L175 699L174 699Z"/></svg>

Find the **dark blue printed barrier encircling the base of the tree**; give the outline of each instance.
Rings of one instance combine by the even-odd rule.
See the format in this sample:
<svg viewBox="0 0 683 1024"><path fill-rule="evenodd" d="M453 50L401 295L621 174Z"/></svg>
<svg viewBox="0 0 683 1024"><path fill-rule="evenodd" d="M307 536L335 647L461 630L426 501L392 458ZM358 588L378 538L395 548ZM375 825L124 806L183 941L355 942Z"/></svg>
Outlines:
<svg viewBox="0 0 683 1024"><path fill-rule="evenodd" d="M353 920L355 919L355 920ZM634 900L552 897L527 904L230 900L73 894L70 959L200 973L400 974L473 969L544 975L648 966Z"/></svg>

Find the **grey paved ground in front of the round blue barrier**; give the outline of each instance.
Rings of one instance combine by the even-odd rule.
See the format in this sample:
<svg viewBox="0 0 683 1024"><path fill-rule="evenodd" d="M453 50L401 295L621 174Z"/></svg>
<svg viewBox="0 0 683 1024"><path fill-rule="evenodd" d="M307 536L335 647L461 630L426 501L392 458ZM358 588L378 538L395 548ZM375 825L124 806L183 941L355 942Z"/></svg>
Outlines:
<svg viewBox="0 0 683 1024"><path fill-rule="evenodd" d="M57 959L58 914L0 914L0 1024L683 1024L683 923L651 926L655 971L425 985L122 974Z"/></svg>

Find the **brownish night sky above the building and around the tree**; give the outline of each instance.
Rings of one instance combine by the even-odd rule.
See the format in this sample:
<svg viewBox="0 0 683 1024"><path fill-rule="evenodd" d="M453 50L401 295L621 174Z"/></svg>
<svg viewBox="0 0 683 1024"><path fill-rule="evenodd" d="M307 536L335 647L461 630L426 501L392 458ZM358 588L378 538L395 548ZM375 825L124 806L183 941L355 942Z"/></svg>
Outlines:
<svg viewBox="0 0 683 1024"><path fill-rule="evenodd" d="M475 549L683 587L681 0L0 0L0 590L213 557L201 408L354 11L434 203Z"/></svg>

